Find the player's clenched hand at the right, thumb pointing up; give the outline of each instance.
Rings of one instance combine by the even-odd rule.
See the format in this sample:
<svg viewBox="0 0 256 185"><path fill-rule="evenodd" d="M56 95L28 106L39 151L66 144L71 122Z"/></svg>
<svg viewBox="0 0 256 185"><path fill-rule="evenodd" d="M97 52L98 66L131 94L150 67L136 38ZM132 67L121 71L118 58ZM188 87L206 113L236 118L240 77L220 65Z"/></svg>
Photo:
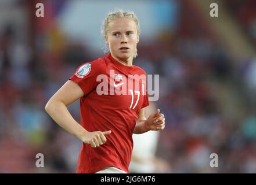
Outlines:
<svg viewBox="0 0 256 185"><path fill-rule="evenodd" d="M165 127L164 114L160 113L160 109L157 109L156 112L150 114L150 116L147 118L145 124L152 131L164 129L164 127Z"/></svg>

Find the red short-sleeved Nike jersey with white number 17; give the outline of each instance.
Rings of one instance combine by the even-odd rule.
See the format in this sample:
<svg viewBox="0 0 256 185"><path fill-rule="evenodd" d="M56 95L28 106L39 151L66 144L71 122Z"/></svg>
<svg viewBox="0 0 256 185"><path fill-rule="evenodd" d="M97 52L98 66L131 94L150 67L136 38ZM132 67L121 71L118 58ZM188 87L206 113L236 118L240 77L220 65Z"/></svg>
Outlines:
<svg viewBox="0 0 256 185"><path fill-rule="evenodd" d="M146 79L138 75L146 78L143 69L125 66L109 53L82 64L70 77L85 94L80 98L82 127L90 132L111 130L111 134L106 135L107 142L99 147L83 143L77 173L95 173L107 166L129 172L138 113L149 105Z"/></svg>

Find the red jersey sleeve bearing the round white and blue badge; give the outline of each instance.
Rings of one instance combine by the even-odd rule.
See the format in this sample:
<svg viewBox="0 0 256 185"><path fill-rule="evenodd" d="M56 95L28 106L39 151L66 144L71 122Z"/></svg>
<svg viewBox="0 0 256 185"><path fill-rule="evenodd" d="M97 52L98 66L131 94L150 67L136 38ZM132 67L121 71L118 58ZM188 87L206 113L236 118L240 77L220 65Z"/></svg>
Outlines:
<svg viewBox="0 0 256 185"><path fill-rule="evenodd" d="M104 61L96 60L80 65L74 75L69 80L77 83L84 94L91 92L100 82L97 82L97 76L106 73Z"/></svg>

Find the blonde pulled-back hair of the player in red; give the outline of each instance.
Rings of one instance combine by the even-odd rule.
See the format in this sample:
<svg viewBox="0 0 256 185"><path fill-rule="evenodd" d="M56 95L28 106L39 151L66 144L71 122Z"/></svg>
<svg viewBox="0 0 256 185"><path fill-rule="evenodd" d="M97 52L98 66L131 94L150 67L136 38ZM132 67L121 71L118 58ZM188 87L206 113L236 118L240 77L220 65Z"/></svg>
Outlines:
<svg viewBox="0 0 256 185"><path fill-rule="evenodd" d="M117 18L131 18L132 20L134 20L137 28L137 34L138 35L140 34L139 21L136 14L132 11L117 9L117 10L114 10L114 12L110 12L109 14L107 14L106 19L103 21L101 33L104 39L107 39L107 32L109 31L109 23L111 23L111 21L113 20L116 20ZM109 52L109 47L107 45L105 47L106 47L105 52L106 53ZM137 56L138 56L138 52L137 52L137 49L135 49L134 58L136 58Z"/></svg>

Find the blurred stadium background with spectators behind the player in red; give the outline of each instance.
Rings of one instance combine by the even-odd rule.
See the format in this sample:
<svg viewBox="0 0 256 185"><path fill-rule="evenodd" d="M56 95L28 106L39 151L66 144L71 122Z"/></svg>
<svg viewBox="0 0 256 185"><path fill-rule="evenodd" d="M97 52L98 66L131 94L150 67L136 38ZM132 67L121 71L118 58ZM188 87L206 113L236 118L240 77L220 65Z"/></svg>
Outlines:
<svg viewBox="0 0 256 185"><path fill-rule="evenodd" d="M45 17L35 16L38 2ZM219 17L210 17L211 2ZM254 0L1 0L0 172L75 172L81 142L44 107L78 65L103 56L100 26L114 8L139 18L134 64L160 74L166 128L156 156L170 163L167 172L256 173ZM79 102L68 109L79 121Z"/></svg>

